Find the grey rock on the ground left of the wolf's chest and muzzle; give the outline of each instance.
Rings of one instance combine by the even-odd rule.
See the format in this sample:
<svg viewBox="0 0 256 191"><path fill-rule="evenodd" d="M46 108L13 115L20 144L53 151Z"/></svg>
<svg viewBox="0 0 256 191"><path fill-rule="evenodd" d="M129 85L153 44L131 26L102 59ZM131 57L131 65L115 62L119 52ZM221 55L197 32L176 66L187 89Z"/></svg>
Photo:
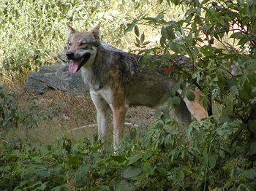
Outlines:
<svg viewBox="0 0 256 191"><path fill-rule="evenodd" d="M69 73L68 60L64 53L59 53L56 64L42 66L38 72L31 73L26 81L26 87L29 91L39 94L45 93L48 89L75 94L89 91L89 88L83 83L80 72Z"/></svg>

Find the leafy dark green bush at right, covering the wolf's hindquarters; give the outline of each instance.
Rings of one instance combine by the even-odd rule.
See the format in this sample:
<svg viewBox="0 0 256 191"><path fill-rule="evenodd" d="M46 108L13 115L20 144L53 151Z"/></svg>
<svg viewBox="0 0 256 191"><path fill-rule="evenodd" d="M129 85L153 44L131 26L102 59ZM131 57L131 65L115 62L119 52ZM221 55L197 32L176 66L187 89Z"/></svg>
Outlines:
<svg viewBox="0 0 256 191"><path fill-rule="evenodd" d="M163 66L176 68L174 75L181 79L182 96L193 101L195 95L191 90L199 89L207 109L217 103L221 117L238 121L241 128L236 138L247 130L251 138L255 137L256 2L167 2L187 5L184 19L165 20L165 12L157 17L135 19L135 31L139 31L138 23L162 26L159 46L140 52L162 52ZM190 63L179 66L172 61L176 55L187 56ZM173 104L173 99L169 102ZM253 140L249 147L251 155L255 154Z"/></svg>

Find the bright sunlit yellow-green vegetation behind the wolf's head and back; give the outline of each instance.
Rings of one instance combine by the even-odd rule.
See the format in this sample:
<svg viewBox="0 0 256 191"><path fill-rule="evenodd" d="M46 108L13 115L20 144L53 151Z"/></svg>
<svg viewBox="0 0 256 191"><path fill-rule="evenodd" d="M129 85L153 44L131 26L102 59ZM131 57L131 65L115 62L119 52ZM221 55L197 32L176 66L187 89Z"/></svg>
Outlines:
<svg viewBox="0 0 256 191"><path fill-rule="evenodd" d="M85 31L101 23L102 39L127 49L133 41L124 36L129 17L157 14L164 6L146 0L0 1L0 75L23 81L30 71L54 63L67 41L66 23Z"/></svg>

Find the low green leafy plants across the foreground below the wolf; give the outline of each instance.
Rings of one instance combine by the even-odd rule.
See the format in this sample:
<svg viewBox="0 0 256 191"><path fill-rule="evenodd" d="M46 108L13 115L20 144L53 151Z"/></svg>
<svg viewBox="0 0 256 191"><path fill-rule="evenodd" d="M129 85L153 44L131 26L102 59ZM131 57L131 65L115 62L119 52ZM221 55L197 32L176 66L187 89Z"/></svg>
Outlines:
<svg viewBox="0 0 256 191"><path fill-rule="evenodd" d="M168 116L141 139L130 130L116 155L102 144L72 143L34 149L20 140L1 143L1 190L230 190L255 188L255 163L239 139L238 122L209 117L181 130ZM133 139L132 139L133 137Z"/></svg>

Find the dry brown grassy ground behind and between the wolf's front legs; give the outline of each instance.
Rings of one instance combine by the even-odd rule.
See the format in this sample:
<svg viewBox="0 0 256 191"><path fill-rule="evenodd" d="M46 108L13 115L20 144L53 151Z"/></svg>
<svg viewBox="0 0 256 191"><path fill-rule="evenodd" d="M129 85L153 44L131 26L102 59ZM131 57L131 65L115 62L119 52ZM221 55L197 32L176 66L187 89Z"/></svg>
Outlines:
<svg viewBox="0 0 256 191"><path fill-rule="evenodd" d="M23 85L13 90L15 101L24 112L29 109L39 116L38 125L31 128L20 125L19 128L2 129L0 139L8 141L21 139L34 145L53 144L62 136L71 140L93 139L97 134L96 110L90 95L72 95L58 90L48 90L43 95L29 93ZM112 116L111 116L112 117ZM107 139L112 141L112 119L108 125ZM145 106L129 107L126 122L146 129L154 122L154 109ZM127 131L130 127L125 127Z"/></svg>

